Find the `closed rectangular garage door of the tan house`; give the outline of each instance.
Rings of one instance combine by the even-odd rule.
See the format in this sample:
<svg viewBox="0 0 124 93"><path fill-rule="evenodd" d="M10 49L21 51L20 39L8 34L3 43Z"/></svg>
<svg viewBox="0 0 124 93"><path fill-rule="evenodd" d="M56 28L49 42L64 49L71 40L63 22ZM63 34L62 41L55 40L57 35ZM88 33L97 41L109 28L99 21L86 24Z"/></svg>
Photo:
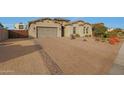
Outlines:
<svg viewBox="0 0 124 93"><path fill-rule="evenodd" d="M37 27L37 37L57 37L57 27Z"/></svg>

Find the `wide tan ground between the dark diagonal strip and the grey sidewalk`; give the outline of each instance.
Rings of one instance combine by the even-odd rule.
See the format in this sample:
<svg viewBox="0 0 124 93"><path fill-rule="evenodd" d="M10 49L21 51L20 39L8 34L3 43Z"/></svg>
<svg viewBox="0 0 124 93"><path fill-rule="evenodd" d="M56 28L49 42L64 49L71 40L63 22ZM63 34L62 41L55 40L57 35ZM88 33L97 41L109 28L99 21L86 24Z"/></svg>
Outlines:
<svg viewBox="0 0 124 93"><path fill-rule="evenodd" d="M63 74L108 74L121 43L110 45L89 38L44 38L37 42L43 47Z"/></svg>

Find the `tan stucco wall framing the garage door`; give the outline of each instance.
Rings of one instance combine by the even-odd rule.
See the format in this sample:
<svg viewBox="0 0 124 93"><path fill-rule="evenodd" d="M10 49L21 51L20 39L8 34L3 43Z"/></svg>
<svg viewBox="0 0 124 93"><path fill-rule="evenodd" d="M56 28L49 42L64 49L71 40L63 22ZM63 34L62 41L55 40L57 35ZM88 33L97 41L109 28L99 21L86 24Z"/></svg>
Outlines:
<svg viewBox="0 0 124 93"><path fill-rule="evenodd" d="M35 24L32 23L29 27L29 37L36 38L36 27L43 26L43 27L57 27L57 37L61 37L61 26L60 24L54 23L53 21L44 20L43 22L36 22ZM34 29L35 28L35 29Z"/></svg>

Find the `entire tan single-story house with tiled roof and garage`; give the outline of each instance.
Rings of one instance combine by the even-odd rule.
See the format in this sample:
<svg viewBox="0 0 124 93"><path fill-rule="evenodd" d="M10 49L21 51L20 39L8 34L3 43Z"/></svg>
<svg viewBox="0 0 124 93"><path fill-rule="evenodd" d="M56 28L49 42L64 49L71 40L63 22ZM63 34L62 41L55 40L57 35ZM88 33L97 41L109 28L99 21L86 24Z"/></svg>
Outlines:
<svg viewBox="0 0 124 93"><path fill-rule="evenodd" d="M70 22L62 18L43 18L29 22L29 37L70 37L71 34L92 35L92 26L83 21Z"/></svg>

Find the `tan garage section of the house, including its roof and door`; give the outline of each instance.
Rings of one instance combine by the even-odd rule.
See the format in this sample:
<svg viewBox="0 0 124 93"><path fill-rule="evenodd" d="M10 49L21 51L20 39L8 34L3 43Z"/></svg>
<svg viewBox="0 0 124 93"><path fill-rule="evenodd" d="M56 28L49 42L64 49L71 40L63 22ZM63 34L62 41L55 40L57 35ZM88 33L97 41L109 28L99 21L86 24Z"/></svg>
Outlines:
<svg viewBox="0 0 124 93"><path fill-rule="evenodd" d="M61 24L50 18L29 22L29 37L61 37Z"/></svg>

